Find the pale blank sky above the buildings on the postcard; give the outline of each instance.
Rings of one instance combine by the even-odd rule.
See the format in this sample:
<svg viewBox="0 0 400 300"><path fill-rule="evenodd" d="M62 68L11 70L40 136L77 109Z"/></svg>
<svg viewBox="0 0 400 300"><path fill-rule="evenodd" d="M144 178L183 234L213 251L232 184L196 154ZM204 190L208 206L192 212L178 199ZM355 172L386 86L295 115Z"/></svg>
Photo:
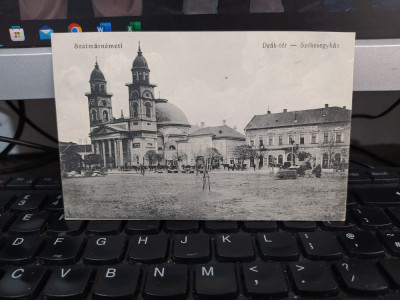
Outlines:
<svg viewBox="0 0 400 300"><path fill-rule="evenodd" d="M308 33L310 34L310 33ZM341 40L340 40L341 39ZM60 141L89 134L89 78L97 60L113 94L113 116L129 117L128 87L140 41L157 85L155 97L177 105L193 125L244 127L256 114L330 106L351 108L354 37L292 32L60 33L52 36ZM353 42L352 42L353 41ZM75 49L74 44L122 43L122 49ZM286 49L263 48L286 42ZM291 47L339 42L339 49ZM89 142L89 141L88 141Z"/></svg>

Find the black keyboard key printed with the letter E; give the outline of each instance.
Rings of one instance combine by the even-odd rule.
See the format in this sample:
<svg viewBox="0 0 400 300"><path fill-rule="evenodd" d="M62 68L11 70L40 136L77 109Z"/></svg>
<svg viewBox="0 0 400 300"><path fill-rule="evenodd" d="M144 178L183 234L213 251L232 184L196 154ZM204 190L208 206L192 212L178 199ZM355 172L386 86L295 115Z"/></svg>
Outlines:
<svg viewBox="0 0 400 300"><path fill-rule="evenodd" d="M14 234L40 233L47 223L48 215L40 212L37 214L22 214L17 217L8 231Z"/></svg>

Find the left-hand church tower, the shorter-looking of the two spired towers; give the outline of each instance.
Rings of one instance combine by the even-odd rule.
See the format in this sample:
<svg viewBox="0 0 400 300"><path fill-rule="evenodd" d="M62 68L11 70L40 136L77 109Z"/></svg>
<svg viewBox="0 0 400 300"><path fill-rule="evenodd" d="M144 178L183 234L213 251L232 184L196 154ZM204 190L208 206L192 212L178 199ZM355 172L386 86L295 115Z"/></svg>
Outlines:
<svg viewBox="0 0 400 300"><path fill-rule="evenodd" d="M113 120L112 94L107 93L107 81L99 68L97 59L94 69L90 74L89 83L90 93L86 93L85 95L88 97L90 127L107 124Z"/></svg>

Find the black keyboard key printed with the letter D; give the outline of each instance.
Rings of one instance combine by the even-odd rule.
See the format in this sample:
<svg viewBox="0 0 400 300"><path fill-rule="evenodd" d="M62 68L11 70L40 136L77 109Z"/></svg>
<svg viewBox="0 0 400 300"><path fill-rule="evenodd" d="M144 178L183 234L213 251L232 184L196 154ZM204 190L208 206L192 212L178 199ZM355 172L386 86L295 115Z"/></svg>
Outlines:
<svg viewBox="0 0 400 300"><path fill-rule="evenodd" d="M39 236L12 237L0 249L0 262L14 265L33 262L42 241Z"/></svg>

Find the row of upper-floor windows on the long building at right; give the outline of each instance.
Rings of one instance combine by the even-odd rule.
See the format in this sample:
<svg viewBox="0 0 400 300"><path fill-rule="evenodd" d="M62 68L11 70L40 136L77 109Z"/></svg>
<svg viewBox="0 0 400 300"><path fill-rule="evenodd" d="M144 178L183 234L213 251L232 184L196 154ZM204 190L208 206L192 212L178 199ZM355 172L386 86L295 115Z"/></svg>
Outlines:
<svg viewBox="0 0 400 300"><path fill-rule="evenodd" d="M286 142L284 141L283 135L278 136L278 145L292 145L292 144L300 144L304 145L306 141L305 135L300 134L299 137L296 137L295 135L288 135ZM343 134L342 132L335 132L334 135L334 140L335 143L342 143L343 142ZM329 132L324 132L323 140L322 142L324 144L327 144L329 142L332 142L329 137ZM318 144L318 134L317 133L311 133L310 135L310 143L311 144ZM255 139L250 138L250 145L251 146L256 146L255 144ZM275 145L275 137L267 137L266 143L264 143L264 137L259 137L258 138L258 146L274 146Z"/></svg>

